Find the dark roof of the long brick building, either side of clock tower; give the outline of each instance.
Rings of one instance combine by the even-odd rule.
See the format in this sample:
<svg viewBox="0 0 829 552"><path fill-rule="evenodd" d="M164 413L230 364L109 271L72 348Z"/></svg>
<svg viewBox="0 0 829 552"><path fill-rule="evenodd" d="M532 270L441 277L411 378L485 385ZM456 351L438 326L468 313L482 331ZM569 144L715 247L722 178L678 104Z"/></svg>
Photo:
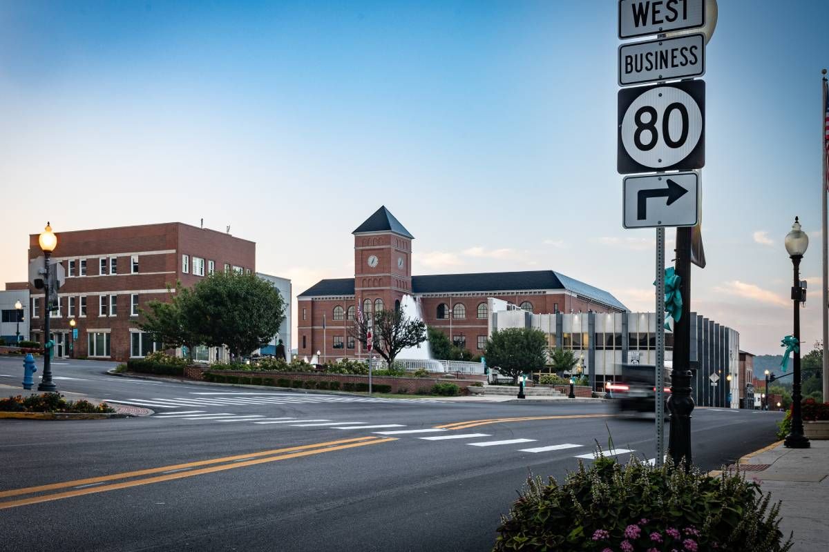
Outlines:
<svg viewBox="0 0 829 552"><path fill-rule="evenodd" d="M412 276L412 292L463 293L464 291L510 290L568 290L577 295L628 310L618 299L605 290L589 286L556 271L478 272L473 274L434 274ZM353 278L321 280L299 296L354 295Z"/></svg>

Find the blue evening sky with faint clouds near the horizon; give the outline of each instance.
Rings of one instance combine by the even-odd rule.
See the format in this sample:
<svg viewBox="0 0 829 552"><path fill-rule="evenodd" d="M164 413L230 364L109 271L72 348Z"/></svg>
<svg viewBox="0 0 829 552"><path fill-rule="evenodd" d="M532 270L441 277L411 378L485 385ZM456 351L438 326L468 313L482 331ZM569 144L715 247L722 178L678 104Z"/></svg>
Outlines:
<svg viewBox="0 0 829 552"><path fill-rule="evenodd" d="M46 220L204 218L298 295L353 275L351 231L385 204L415 275L552 269L652 311L656 231L621 221L617 5L0 0L0 285ZM796 215L807 349L822 334L827 21L720 0L706 50L691 305L756 354L792 332Z"/></svg>

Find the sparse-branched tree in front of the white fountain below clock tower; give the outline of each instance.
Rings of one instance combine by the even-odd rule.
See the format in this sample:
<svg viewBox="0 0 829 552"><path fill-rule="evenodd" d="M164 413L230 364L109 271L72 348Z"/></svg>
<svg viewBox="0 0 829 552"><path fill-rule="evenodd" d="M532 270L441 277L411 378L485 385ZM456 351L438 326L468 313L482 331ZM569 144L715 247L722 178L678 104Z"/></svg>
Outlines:
<svg viewBox="0 0 829 552"><path fill-rule="evenodd" d="M351 337L366 346L369 329L369 317L363 313L356 318L348 329ZM391 368L400 351L407 347L417 347L426 341L426 324L423 320L410 319L403 309L379 310L374 313L371 325L371 349L385 359Z"/></svg>

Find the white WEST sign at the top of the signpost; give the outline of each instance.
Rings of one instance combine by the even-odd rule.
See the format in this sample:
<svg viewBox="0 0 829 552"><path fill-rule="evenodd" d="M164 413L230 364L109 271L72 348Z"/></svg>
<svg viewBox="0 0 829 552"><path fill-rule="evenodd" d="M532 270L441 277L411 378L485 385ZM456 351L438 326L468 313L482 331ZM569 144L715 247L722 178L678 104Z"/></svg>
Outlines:
<svg viewBox="0 0 829 552"><path fill-rule="evenodd" d="M705 0L619 0L619 38L705 25Z"/></svg>

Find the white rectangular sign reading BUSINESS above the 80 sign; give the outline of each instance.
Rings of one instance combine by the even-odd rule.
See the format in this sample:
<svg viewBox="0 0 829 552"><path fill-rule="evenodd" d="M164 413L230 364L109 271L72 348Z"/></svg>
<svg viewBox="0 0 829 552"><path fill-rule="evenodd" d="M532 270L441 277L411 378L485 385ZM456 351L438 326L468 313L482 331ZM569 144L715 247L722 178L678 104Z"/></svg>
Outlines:
<svg viewBox="0 0 829 552"><path fill-rule="evenodd" d="M705 36L701 34L619 46L619 86L703 74Z"/></svg>

